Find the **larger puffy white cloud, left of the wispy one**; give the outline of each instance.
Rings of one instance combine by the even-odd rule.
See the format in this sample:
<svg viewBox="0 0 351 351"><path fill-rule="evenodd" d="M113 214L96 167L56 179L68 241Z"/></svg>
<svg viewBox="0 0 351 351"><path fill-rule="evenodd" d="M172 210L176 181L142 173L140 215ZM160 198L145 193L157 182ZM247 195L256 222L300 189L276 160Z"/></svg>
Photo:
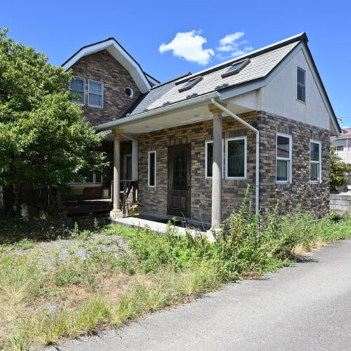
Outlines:
<svg viewBox="0 0 351 351"><path fill-rule="evenodd" d="M174 56L196 62L199 65L207 65L211 56L215 53L211 48L203 48L207 40L199 34L201 34L201 31L179 32L171 42L161 44L159 52L173 51Z"/></svg>

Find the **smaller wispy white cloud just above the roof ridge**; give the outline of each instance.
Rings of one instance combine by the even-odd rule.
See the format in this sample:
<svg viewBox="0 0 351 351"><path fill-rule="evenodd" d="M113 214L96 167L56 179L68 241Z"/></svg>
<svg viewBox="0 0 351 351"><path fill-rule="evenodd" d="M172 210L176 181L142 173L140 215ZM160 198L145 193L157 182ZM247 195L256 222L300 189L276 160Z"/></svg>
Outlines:
<svg viewBox="0 0 351 351"><path fill-rule="evenodd" d="M226 53L226 55L218 53L217 58L224 60L225 58L234 58L252 51L252 46L245 46L244 48L240 48L240 46L244 44L249 44L249 41L247 40L238 42L238 40L243 37L244 34L244 32L235 32L232 34L227 34L224 38L220 39L220 45L217 47L217 51L220 53Z"/></svg>

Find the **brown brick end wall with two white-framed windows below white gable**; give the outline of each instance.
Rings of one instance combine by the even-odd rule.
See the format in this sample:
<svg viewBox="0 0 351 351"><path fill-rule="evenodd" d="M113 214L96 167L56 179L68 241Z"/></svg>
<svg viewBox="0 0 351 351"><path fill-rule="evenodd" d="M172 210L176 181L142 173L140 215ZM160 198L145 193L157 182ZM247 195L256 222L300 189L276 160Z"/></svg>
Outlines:
<svg viewBox="0 0 351 351"><path fill-rule="evenodd" d="M297 206L322 216L329 211L330 132L291 119L258 112L260 130L260 211L271 210L280 201L283 213ZM292 182L275 182L276 133L292 135ZM322 142L322 182L310 183L310 140Z"/></svg>

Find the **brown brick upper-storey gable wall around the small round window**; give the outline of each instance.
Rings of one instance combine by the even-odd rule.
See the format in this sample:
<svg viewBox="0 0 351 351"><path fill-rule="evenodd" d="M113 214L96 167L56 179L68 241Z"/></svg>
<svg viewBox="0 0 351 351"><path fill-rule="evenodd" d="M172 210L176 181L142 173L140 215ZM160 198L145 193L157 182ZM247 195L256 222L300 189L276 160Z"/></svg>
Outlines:
<svg viewBox="0 0 351 351"><path fill-rule="evenodd" d="M106 50L78 60L72 66L72 73L86 79L84 117L93 126L124 117L129 107L141 95L129 72ZM103 108L88 106L88 79L101 81L104 84ZM128 98L125 93L127 86L134 91L132 98Z"/></svg>

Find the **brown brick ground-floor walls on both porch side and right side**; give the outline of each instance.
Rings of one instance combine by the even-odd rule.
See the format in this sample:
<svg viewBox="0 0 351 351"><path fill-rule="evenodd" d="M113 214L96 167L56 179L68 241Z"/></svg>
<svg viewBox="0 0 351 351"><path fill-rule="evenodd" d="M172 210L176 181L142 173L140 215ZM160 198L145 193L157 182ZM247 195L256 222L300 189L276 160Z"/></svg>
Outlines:
<svg viewBox="0 0 351 351"><path fill-rule="evenodd" d="M324 214L329 209L329 131L283 117L250 112L240 116L260 130L260 211L281 202L284 212L300 204L305 210ZM140 211L167 214L167 152L171 145L191 145L191 218L211 222L211 182L205 179L205 141L212 140L213 121L143 133L139 139ZM276 133L292 134L293 176L291 184L275 182ZM255 201L256 134L232 119L223 118L223 138L247 136L247 179L222 180L223 219L237 208L250 185L249 199ZM310 139L322 141L322 183L310 184ZM147 187L147 152L157 152L157 186Z"/></svg>

